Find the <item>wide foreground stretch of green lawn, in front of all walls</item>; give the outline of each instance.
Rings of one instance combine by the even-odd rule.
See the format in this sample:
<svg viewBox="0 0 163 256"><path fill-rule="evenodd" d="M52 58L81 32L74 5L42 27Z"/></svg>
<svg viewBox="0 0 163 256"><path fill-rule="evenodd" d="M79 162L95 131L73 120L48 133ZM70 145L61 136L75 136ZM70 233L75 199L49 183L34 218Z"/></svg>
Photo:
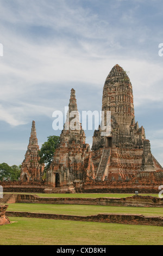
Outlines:
<svg viewBox="0 0 163 256"><path fill-rule="evenodd" d="M142 225L10 218L0 245L163 245L163 228Z"/></svg>

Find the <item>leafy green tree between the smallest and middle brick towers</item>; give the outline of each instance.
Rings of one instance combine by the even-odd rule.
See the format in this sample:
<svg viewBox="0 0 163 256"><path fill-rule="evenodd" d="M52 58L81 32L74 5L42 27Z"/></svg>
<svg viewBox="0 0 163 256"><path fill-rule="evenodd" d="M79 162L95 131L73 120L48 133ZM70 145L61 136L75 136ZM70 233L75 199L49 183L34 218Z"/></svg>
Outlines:
<svg viewBox="0 0 163 256"><path fill-rule="evenodd" d="M41 150L39 152L40 164L46 164L45 171L50 167L54 152L60 143L59 136L49 136L47 142L42 144Z"/></svg>

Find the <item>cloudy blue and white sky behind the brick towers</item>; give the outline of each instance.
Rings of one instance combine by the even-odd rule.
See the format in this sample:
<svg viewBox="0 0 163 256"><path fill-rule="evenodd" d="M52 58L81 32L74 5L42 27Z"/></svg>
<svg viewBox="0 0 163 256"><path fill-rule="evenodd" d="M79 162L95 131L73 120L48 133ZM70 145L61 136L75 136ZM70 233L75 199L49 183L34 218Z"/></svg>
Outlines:
<svg viewBox="0 0 163 256"><path fill-rule="evenodd" d="M68 105L71 88L79 112L100 111L106 76L119 64L163 165L162 20L162 0L0 0L0 163L22 163L33 120L40 147L60 134L52 114Z"/></svg>

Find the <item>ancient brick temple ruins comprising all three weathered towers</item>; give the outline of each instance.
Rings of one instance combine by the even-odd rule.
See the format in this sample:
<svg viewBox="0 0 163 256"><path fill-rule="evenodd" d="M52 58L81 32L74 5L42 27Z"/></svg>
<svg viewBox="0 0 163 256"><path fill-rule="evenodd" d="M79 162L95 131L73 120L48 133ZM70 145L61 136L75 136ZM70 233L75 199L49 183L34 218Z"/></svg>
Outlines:
<svg viewBox="0 0 163 256"><path fill-rule="evenodd" d="M102 97L104 126L111 115L110 131L102 123L93 134L92 148L85 143L79 122L76 92L71 90L69 110L60 145L47 171L47 189L57 192L156 192L163 169L151 152L145 129L135 122L133 89L124 70L116 65L105 80ZM21 168L21 181L41 181L35 122ZM133 190L134 189L134 190Z"/></svg>

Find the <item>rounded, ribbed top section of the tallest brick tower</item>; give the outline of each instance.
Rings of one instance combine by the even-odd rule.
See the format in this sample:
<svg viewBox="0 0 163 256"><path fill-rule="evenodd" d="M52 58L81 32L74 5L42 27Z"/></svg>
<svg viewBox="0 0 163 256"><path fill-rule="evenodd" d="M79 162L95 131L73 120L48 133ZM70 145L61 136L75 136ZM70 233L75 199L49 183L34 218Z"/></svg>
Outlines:
<svg viewBox="0 0 163 256"><path fill-rule="evenodd" d="M127 72L118 64L105 80L102 110L111 111L119 125L130 125L134 118L133 88Z"/></svg>

